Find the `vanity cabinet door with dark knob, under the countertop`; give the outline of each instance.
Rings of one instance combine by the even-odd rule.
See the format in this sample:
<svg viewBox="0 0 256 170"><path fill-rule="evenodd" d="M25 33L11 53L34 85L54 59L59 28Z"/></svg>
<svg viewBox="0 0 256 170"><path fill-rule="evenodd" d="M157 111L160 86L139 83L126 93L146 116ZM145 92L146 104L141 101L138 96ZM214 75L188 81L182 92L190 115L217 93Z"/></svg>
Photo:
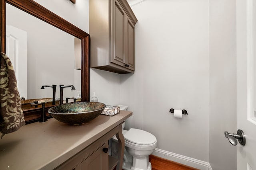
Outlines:
<svg viewBox="0 0 256 170"><path fill-rule="evenodd" d="M104 148L108 148L106 143L81 163L81 170L108 170L108 152Z"/></svg>

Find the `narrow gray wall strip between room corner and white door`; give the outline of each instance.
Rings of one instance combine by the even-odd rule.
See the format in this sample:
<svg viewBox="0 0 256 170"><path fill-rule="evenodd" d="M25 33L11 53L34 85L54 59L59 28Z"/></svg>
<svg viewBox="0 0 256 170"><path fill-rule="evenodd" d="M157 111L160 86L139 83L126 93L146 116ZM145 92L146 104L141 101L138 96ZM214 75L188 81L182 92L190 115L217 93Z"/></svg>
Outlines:
<svg viewBox="0 0 256 170"><path fill-rule="evenodd" d="M236 1L210 0L210 164L236 170Z"/></svg>

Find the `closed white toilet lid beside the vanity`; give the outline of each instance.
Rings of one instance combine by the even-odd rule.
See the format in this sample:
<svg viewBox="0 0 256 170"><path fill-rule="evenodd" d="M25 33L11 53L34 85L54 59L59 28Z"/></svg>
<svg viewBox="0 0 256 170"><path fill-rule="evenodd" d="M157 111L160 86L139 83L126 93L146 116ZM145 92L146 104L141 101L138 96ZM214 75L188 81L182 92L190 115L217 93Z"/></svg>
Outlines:
<svg viewBox="0 0 256 170"><path fill-rule="evenodd" d="M125 135L124 139L131 143L136 143L139 145L150 145L156 142L156 137L151 133L140 129L131 128Z"/></svg>

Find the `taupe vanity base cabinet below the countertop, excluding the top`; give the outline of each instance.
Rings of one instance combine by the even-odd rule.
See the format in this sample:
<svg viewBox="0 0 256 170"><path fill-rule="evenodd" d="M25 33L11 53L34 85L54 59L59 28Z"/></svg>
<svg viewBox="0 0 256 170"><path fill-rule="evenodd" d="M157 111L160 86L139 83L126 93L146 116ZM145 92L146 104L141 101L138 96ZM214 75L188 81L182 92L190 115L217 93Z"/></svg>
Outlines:
<svg viewBox="0 0 256 170"><path fill-rule="evenodd" d="M108 155L108 140L114 135L120 140L118 145L121 152L118 153L118 159ZM122 135L122 124L119 124L55 170L113 170L116 166L117 169L122 170L123 155L124 136Z"/></svg>

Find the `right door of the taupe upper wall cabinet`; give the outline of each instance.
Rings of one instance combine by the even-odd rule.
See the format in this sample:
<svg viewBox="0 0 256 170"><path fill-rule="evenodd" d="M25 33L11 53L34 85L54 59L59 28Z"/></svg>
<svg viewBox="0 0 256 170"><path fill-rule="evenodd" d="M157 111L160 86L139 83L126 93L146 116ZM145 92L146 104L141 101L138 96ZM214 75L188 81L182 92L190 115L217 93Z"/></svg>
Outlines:
<svg viewBox="0 0 256 170"><path fill-rule="evenodd" d="M127 17L127 35L126 35L126 65L127 68L130 70L135 69L135 32L134 32L134 24L130 20L130 18Z"/></svg>

